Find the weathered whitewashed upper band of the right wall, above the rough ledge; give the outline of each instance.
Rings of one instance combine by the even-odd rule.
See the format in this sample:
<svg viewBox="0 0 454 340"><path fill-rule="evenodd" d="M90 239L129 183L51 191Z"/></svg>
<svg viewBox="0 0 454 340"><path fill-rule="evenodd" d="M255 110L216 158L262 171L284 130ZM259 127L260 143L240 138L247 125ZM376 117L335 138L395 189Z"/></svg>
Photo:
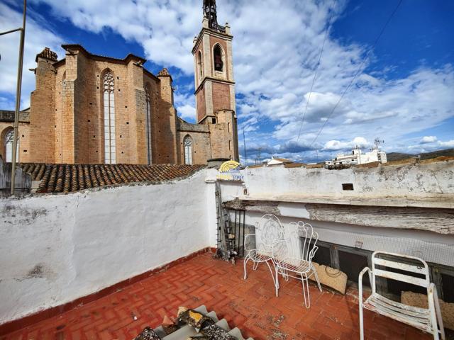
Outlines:
<svg viewBox="0 0 454 340"><path fill-rule="evenodd" d="M242 174L248 195L241 196L250 199L454 208L454 161L343 170L268 166ZM352 183L354 190L343 191L343 183ZM236 197L238 190L235 186L223 197Z"/></svg>

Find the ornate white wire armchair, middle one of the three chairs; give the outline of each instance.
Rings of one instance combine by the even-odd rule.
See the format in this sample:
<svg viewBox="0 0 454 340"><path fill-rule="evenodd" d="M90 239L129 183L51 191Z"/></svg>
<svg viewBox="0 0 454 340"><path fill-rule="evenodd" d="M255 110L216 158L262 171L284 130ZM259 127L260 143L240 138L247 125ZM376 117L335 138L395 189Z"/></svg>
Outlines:
<svg viewBox="0 0 454 340"><path fill-rule="evenodd" d="M319 234L314 232L314 228L309 223L292 222L289 224L288 237L279 239L273 245L273 259L276 266L276 296L279 290L279 274L285 280L289 277L301 279L303 286L304 305L311 307L309 297L309 278L314 275L319 290L321 285L316 268L312 264L312 259L316 254Z"/></svg>

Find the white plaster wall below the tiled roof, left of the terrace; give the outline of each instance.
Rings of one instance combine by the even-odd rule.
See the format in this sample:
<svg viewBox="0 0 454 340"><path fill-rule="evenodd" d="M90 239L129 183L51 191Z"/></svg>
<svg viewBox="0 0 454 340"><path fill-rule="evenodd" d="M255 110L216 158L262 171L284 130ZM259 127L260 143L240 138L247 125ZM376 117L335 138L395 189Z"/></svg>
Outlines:
<svg viewBox="0 0 454 340"><path fill-rule="evenodd" d="M209 246L204 179L0 200L0 324Z"/></svg>

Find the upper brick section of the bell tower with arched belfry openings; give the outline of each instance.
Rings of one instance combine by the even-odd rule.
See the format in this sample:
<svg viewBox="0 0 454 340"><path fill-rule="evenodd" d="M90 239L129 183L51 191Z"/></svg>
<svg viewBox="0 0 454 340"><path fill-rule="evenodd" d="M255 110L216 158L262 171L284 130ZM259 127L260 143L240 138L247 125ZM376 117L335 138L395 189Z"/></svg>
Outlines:
<svg viewBox="0 0 454 340"><path fill-rule="evenodd" d="M236 111L230 26L217 21L216 0L204 0L204 19L194 38L197 123L216 122L216 112Z"/></svg>

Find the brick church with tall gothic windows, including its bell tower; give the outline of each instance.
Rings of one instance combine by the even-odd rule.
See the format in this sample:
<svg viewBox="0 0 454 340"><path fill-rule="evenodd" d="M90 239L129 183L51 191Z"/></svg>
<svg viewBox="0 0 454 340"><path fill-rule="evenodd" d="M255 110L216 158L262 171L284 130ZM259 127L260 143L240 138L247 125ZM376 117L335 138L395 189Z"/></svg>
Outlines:
<svg viewBox="0 0 454 340"><path fill-rule="evenodd" d="M21 111L18 162L47 164L206 164L238 160L230 27L204 1L194 38L196 123L179 118L172 76L143 67L142 57L94 55L62 45L36 56L31 107ZM189 52L189 51L188 51ZM11 162L13 111L0 111L0 156Z"/></svg>

